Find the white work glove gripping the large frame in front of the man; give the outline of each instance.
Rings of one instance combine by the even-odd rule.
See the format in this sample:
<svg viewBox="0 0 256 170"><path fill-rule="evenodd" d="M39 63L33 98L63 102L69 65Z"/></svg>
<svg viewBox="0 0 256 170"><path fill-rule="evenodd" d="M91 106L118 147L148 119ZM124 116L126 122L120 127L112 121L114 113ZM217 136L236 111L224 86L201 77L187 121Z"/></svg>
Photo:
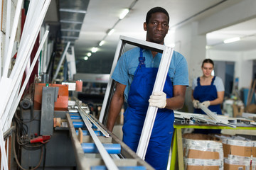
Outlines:
<svg viewBox="0 0 256 170"><path fill-rule="evenodd" d="M163 91L154 92L149 98L149 106L154 106L157 108L165 108L166 94Z"/></svg>

